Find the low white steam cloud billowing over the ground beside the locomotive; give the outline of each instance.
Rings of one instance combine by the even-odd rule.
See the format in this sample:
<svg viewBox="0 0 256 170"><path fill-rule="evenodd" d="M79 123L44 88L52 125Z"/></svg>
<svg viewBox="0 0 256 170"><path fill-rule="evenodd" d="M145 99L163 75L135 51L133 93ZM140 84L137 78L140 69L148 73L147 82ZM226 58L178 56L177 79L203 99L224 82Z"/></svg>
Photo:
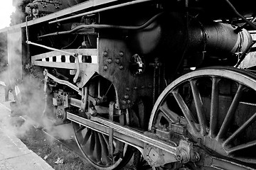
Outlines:
<svg viewBox="0 0 256 170"><path fill-rule="evenodd" d="M6 72L7 71L8 70L6 70ZM1 78L6 75L6 72L2 72ZM51 135L62 140L68 140L73 136L73 128L71 125L55 126L52 119L43 116L43 111L46 107L46 96L43 91L43 82L41 80L26 76L23 77L22 82L18 87L21 91L22 103L20 105L11 103L11 117L6 117L2 120L4 121L2 124L6 126L9 133L23 136L26 135L26 132L33 126L36 128L43 128ZM15 89L13 93L16 93ZM51 114L55 115L55 113Z"/></svg>

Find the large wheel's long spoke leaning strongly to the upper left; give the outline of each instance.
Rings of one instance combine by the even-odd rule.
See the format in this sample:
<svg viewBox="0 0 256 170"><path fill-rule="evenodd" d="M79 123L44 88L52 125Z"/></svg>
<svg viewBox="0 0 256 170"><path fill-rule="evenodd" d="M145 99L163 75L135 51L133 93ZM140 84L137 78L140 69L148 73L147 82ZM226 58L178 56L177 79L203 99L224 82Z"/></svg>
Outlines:
<svg viewBox="0 0 256 170"><path fill-rule="evenodd" d="M178 94L178 90L172 91L174 98L176 99L178 106L181 108L183 115L185 116L186 120L188 121L188 125L192 128L193 132L197 132L197 128L195 125L195 120L191 115L191 111L189 110L188 106L186 105L185 101L180 94Z"/></svg>

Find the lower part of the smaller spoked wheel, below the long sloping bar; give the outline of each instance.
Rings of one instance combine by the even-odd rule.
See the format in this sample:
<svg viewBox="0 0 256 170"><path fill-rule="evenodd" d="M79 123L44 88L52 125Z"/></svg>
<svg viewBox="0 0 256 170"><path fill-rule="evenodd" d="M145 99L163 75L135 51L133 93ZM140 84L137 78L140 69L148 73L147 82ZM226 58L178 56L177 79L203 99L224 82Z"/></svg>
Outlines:
<svg viewBox="0 0 256 170"><path fill-rule="evenodd" d="M132 152L118 140L113 141L113 158L109 157L109 137L101 132L86 128L78 123L72 123L75 140L83 156L97 169L120 169L132 157ZM120 152L122 146L123 153Z"/></svg>

